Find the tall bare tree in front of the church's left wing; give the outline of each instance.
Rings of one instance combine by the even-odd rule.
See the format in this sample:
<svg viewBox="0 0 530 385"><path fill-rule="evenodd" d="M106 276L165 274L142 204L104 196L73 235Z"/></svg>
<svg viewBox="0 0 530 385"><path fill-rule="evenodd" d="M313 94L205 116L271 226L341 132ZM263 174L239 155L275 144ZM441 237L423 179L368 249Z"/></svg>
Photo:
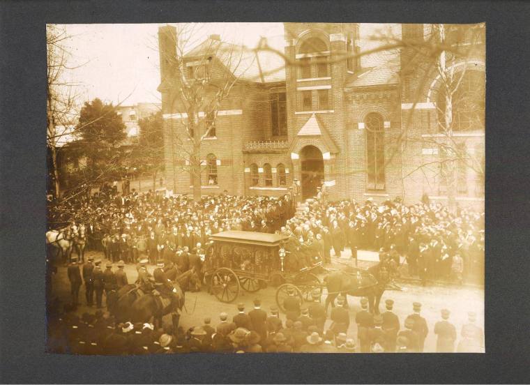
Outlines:
<svg viewBox="0 0 530 385"><path fill-rule="evenodd" d="M176 172L178 160L185 160L182 169L190 173L193 196L200 199L202 168L209 167L201 160L201 146L213 136L218 111L240 80L236 73L244 72L239 68L244 52L216 39L186 52L196 28L195 24L179 24L165 30L172 33L176 54L161 50L161 69L167 74L162 84L165 82L170 109L179 112L169 123L173 169Z"/></svg>

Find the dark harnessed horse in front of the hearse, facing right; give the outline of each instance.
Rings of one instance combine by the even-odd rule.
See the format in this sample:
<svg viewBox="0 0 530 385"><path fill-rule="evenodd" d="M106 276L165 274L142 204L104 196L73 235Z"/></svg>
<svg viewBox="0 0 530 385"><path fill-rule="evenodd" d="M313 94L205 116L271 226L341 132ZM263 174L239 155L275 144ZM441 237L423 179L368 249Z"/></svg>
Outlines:
<svg viewBox="0 0 530 385"><path fill-rule="evenodd" d="M335 306L335 298L342 294L368 298L370 312L379 314L379 301L396 267L395 262L391 261L379 263L368 270L349 268L348 271L333 271L326 275L326 311L330 303L332 307Z"/></svg>

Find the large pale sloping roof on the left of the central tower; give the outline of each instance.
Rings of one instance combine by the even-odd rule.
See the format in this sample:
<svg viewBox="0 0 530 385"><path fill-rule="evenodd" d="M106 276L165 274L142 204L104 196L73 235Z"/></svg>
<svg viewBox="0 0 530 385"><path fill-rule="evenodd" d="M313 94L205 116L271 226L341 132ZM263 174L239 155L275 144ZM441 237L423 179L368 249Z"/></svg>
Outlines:
<svg viewBox="0 0 530 385"><path fill-rule="evenodd" d="M285 60L274 52L206 39L184 55L185 59L215 56L234 76L256 83L285 82Z"/></svg>

